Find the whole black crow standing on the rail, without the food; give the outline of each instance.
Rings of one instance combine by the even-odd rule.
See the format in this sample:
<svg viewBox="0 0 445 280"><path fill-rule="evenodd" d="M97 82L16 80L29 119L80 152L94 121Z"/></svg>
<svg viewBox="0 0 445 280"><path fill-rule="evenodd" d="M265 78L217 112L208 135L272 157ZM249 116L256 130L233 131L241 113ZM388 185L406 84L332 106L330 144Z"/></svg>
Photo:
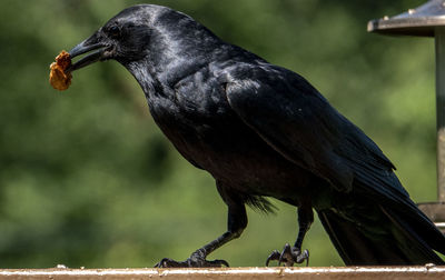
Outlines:
<svg viewBox="0 0 445 280"><path fill-rule="evenodd" d="M69 71L113 59L139 82L150 113L191 164L208 171L228 207L227 231L185 261L207 260L247 226L245 206L267 198L297 207L299 231L267 258L308 259L303 239L313 209L346 264L444 263L445 238L409 199L380 149L303 77L224 42L189 16L140 4L125 9L76 46L88 53Z"/></svg>

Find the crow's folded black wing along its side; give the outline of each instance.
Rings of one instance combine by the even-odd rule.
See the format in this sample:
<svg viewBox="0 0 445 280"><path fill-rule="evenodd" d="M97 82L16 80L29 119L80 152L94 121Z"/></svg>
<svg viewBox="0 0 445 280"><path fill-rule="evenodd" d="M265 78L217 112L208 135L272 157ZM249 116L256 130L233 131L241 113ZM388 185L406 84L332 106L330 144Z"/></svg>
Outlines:
<svg viewBox="0 0 445 280"><path fill-rule="evenodd" d="M283 68L237 71L226 83L230 107L283 157L339 191L359 179L390 200L408 196L380 149L304 78Z"/></svg>

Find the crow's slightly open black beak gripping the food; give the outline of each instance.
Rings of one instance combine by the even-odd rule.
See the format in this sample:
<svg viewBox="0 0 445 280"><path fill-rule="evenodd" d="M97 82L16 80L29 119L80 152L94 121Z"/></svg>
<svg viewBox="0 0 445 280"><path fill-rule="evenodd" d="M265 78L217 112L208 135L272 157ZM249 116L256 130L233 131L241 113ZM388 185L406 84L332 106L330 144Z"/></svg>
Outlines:
<svg viewBox="0 0 445 280"><path fill-rule="evenodd" d="M80 68L83 68L86 66L89 66L91 63L95 63L97 61L102 61L107 60L110 58L111 54L111 47L107 46L105 43L98 42L97 36L93 34L83 42L79 43L72 50L69 51L69 54L72 58L76 58L80 54L88 53L73 64L71 64L67 71L72 72L75 70L78 70Z"/></svg>

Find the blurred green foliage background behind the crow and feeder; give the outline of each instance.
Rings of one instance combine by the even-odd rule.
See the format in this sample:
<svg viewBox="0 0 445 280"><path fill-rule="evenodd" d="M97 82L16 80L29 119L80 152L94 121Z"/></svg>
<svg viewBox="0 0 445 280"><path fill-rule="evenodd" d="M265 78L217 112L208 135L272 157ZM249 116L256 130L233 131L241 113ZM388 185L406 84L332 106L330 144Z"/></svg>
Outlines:
<svg viewBox="0 0 445 280"><path fill-rule="evenodd" d="M144 1L0 2L0 267L151 267L182 260L226 229L209 174L154 123L141 89L117 62L48 83L61 49ZM416 202L435 200L434 41L366 32L369 19L418 0L165 0L224 40L306 77L373 138ZM294 242L296 209L249 210L243 237L210 256L264 266ZM317 221L312 266L343 266Z"/></svg>

